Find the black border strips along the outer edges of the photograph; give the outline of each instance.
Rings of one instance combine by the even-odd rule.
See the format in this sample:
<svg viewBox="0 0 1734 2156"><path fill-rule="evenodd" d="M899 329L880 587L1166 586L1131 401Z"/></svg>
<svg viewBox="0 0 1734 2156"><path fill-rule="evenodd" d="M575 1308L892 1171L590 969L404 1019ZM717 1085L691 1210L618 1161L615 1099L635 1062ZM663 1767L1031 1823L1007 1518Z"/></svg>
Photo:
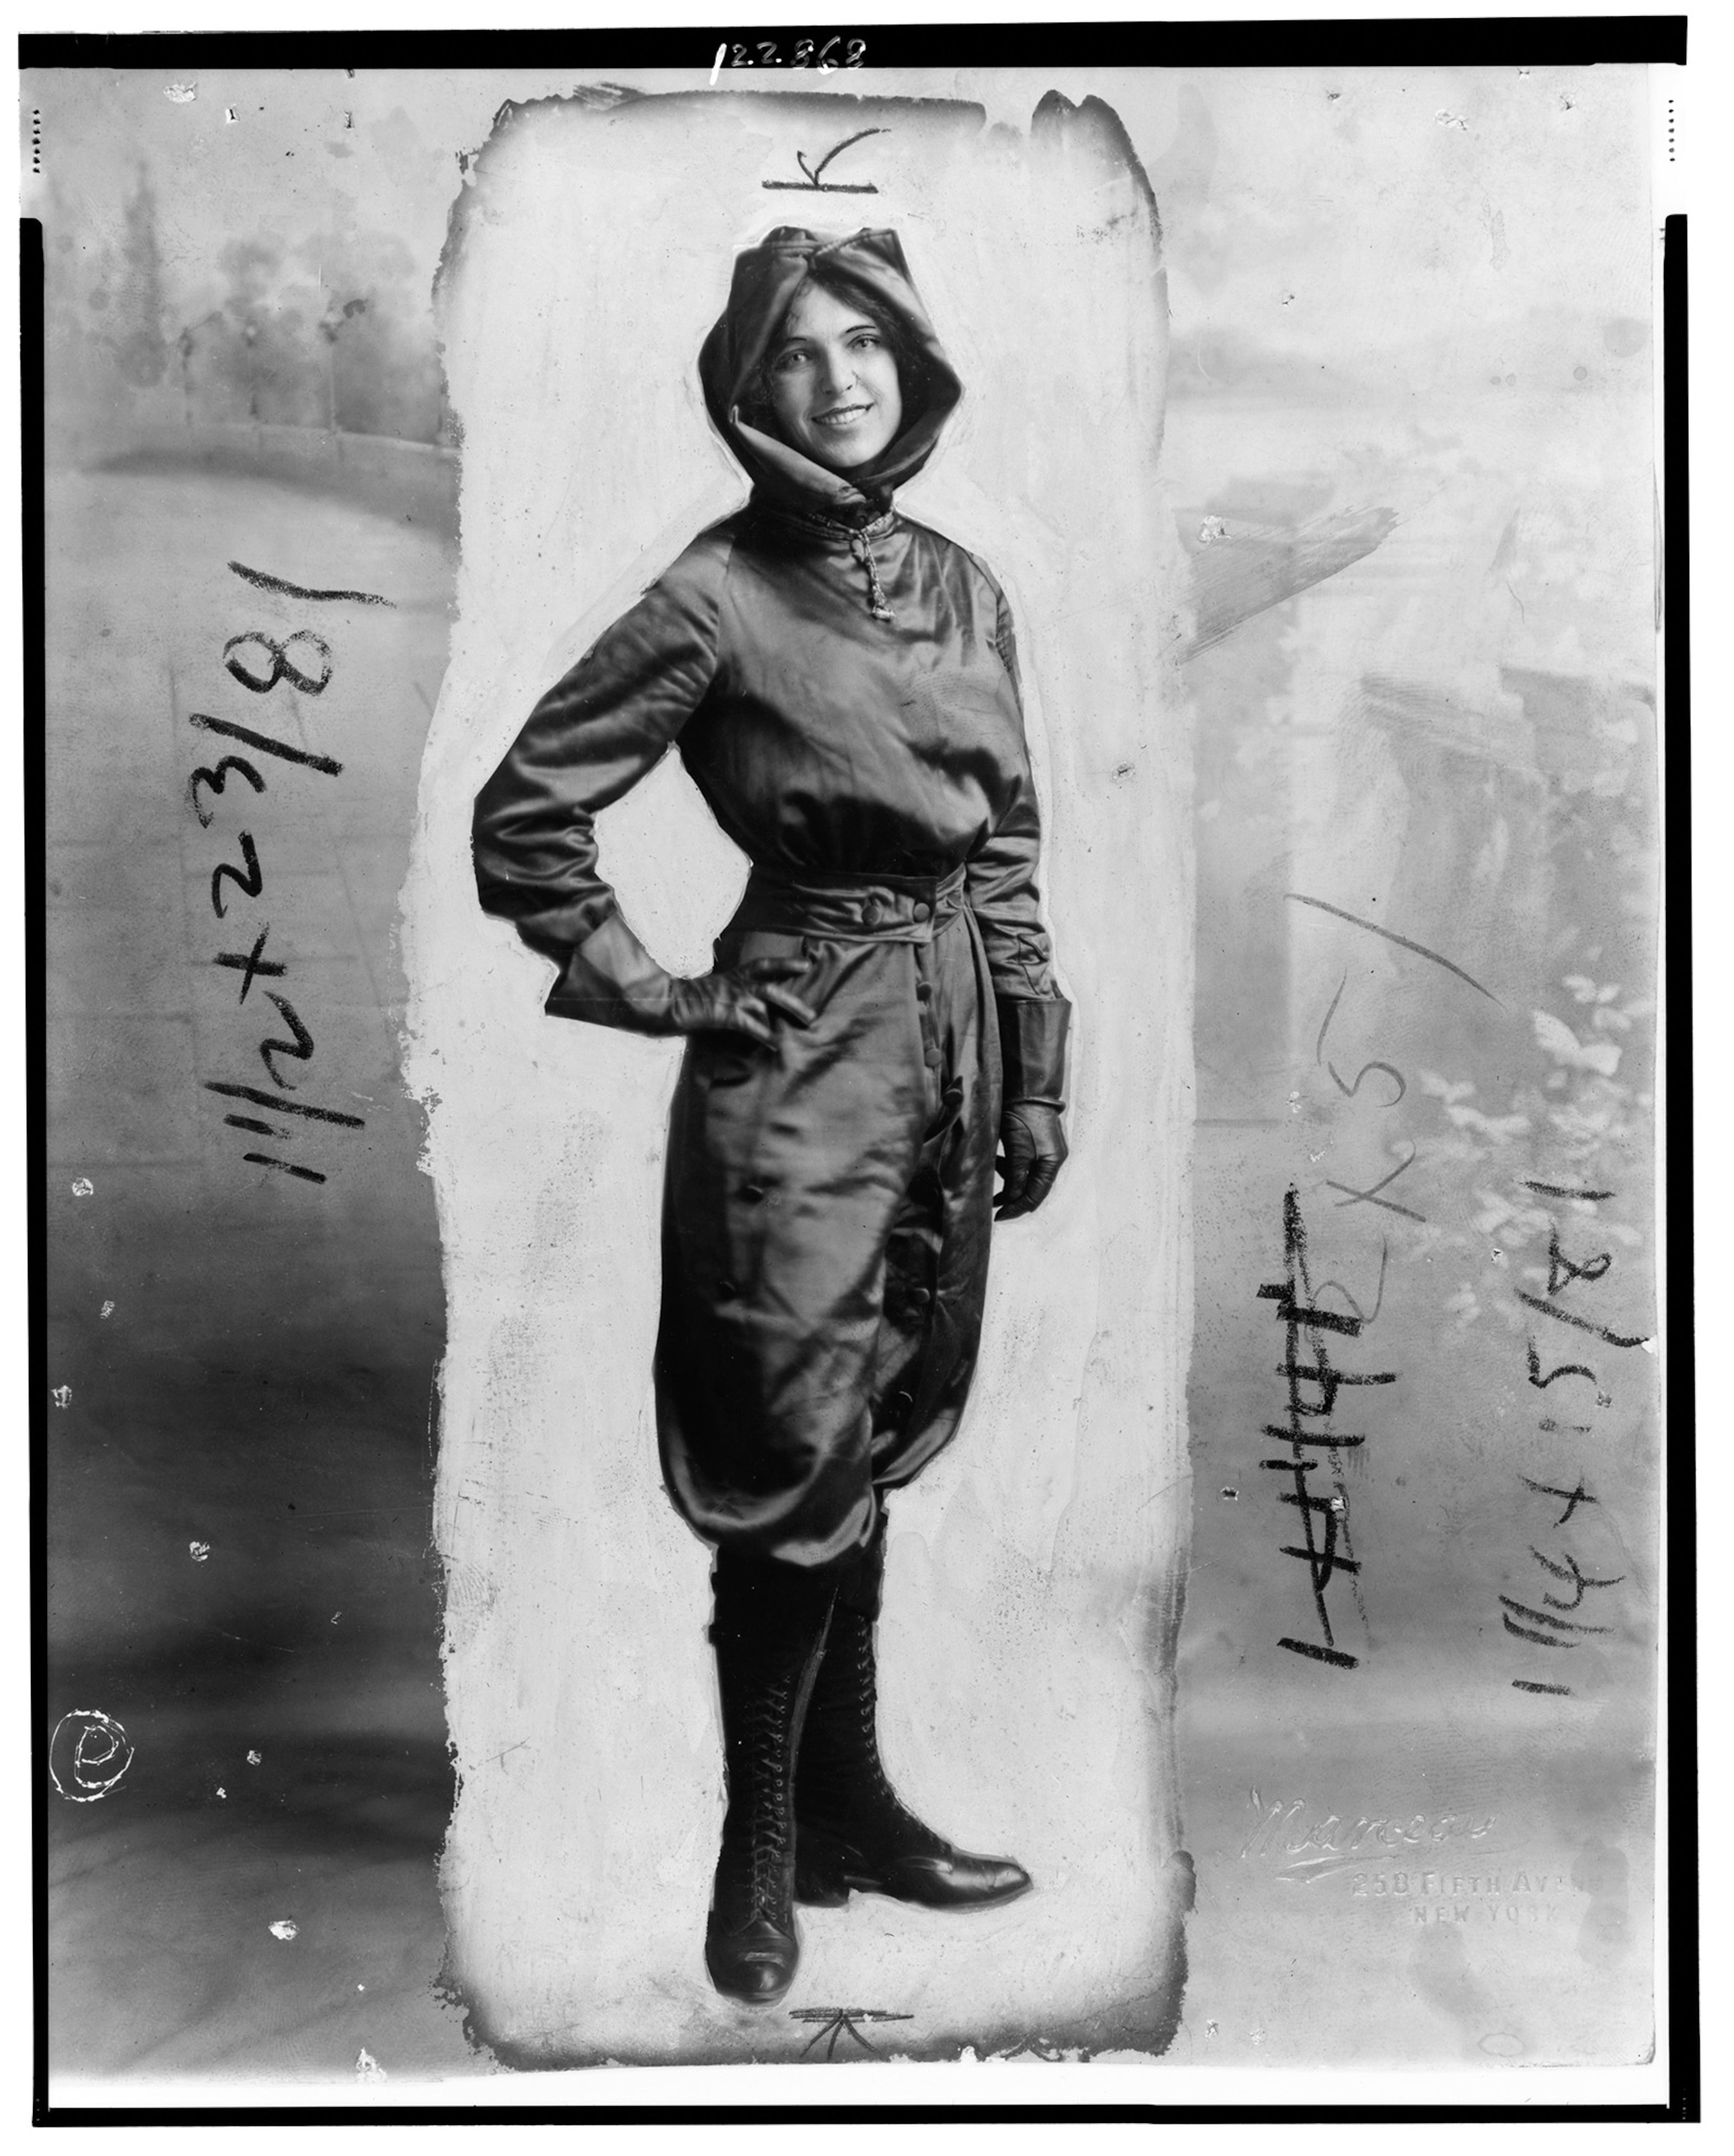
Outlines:
<svg viewBox="0 0 1734 2156"><path fill-rule="evenodd" d="M1249 34L1251 32L1251 34ZM977 26L902 26L876 32L884 65L968 65L962 54ZM688 41L699 47L688 54ZM453 67L574 63L707 65L710 32L216 32L162 37L43 34L19 39L24 67L162 67L173 43L185 67ZM1682 15L1648 17L1540 17L1434 24L1020 24L994 30L999 65L1260 65L1352 63L1395 65L1680 65L1687 56ZM1697 2122L1702 2117L1699 2048L1699 1921L1697 1921L1697 1714L1695 1714L1695 1451L1693 1451L1693 1082L1691 1082L1691 614L1689 614L1689 252L1687 218L1665 226L1661 392L1663 392L1663 552L1667 664L1663 843L1667 862L1669 936L1663 955L1667 987L1665 1050L1669 1059L1667 1115L1667 1322L1669 1322L1669 1466L1667 1466L1667 1626L1669 1669L1663 1673L1663 1712L1669 1733L1669 2093L1652 2104L52 2104L47 2089L47 1930L45 1930L45 1514L43 1466L47 1438L45 1360L45 946L43 946L43 724L45 724L45 608L43 608L43 235L37 220L19 224L19 446L22 446L22 778L26 824L24 1026L26 1026L26 1212L28 1348L30 1348L30 1684L37 1727L32 1777L32 2109L37 2126L129 2124L703 2124L712 2119L779 2124L971 2124L1147 2122L1147 2124L1350 2124L1413 2119L1464 2122ZM1551 2076L1557 2081L1559 2076Z"/></svg>

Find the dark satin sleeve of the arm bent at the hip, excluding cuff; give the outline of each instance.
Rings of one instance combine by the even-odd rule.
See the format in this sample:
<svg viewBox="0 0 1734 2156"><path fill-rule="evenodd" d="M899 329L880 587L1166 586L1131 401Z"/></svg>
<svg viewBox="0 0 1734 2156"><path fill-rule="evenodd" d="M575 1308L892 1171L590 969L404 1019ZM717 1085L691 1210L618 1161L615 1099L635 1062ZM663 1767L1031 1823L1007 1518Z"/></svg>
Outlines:
<svg viewBox="0 0 1734 2156"><path fill-rule="evenodd" d="M694 541L531 711L477 796L483 910L565 959L619 912L595 815L675 742L716 673L727 545Z"/></svg>

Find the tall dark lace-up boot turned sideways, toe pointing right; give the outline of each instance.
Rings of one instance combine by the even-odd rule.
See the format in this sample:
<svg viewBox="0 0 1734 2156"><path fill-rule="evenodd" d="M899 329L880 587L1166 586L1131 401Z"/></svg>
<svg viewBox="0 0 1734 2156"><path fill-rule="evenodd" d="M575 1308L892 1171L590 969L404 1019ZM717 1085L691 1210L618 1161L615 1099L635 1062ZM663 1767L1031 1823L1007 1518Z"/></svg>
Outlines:
<svg viewBox="0 0 1734 2156"><path fill-rule="evenodd" d="M845 1578L807 1708L796 1766L796 1902L839 1908L850 1889L927 1908L992 1908L1027 1893L1009 1856L975 1856L919 1820L886 1779L878 1746L873 1623L882 1533Z"/></svg>

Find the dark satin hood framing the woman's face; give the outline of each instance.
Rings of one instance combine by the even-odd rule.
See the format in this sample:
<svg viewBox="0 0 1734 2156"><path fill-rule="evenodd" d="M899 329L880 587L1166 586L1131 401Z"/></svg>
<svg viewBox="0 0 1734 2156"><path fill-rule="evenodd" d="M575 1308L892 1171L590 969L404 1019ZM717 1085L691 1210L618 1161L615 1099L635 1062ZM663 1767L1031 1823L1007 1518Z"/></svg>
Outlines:
<svg viewBox="0 0 1734 2156"><path fill-rule="evenodd" d="M919 379L902 382L902 431L871 464L852 472L830 472L742 418L742 405L753 401L759 386L770 341L809 274L854 289L873 313L889 317L919 360ZM921 470L964 395L917 298L897 235L861 231L826 239L824 233L804 233L794 224L779 226L735 257L729 304L699 351L699 379L705 410L746 468L755 492L792 509L850 520L889 507L891 489Z"/></svg>

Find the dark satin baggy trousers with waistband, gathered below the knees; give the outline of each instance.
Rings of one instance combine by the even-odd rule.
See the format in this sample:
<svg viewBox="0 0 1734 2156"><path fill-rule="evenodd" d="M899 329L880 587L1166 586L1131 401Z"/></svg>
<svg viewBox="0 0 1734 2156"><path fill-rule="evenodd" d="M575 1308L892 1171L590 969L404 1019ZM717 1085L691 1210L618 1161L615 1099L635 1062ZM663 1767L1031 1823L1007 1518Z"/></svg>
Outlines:
<svg viewBox="0 0 1734 2156"><path fill-rule="evenodd" d="M716 964L800 957L774 1050L688 1041L669 1128L656 1401L682 1518L832 1567L953 1436L981 1337L994 994L964 875L755 871Z"/></svg>

